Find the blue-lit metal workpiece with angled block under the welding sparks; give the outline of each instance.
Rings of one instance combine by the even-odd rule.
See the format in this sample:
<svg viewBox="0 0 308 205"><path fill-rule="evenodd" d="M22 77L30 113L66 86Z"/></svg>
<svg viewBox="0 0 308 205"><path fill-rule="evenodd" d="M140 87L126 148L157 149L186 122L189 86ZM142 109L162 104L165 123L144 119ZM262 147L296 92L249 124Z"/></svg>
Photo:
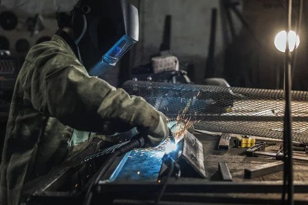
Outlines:
<svg viewBox="0 0 308 205"><path fill-rule="evenodd" d="M170 145L170 142L166 141L165 145ZM202 143L190 132L186 132L183 139L176 144L176 150L166 153L163 146L157 149L137 149L127 153L119 162L114 163L113 169L110 169L110 173L102 177L102 180L158 181L168 173L168 166L162 158L165 154L176 162L175 173L171 176L179 175L179 170L181 177L206 176Z"/></svg>

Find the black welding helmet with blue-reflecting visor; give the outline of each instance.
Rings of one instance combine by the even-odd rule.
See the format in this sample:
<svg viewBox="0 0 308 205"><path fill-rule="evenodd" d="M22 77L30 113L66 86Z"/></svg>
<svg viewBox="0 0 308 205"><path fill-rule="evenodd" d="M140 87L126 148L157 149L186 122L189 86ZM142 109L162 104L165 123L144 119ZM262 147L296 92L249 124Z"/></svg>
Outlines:
<svg viewBox="0 0 308 205"><path fill-rule="evenodd" d="M81 0L72 25L78 57L91 76L114 67L139 39L138 10L125 0Z"/></svg>

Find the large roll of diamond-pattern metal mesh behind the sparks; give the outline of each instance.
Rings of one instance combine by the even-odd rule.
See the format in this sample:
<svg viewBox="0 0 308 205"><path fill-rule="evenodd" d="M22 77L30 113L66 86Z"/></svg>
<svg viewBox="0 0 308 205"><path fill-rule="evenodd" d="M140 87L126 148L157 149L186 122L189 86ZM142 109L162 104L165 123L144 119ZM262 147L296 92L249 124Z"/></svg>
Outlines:
<svg viewBox="0 0 308 205"><path fill-rule="evenodd" d="M169 118L195 121L195 128L283 138L284 91L127 81L130 95L144 97ZM308 92L292 91L293 140L308 142Z"/></svg>

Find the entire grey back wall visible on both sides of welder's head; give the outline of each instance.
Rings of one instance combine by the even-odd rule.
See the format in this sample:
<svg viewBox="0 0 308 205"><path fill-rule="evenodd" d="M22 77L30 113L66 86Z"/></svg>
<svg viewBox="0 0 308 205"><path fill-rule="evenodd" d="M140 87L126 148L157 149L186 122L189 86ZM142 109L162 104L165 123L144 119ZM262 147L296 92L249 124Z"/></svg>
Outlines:
<svg viewBox="0 0 308 205"><path fill-rule="evenodd" d="M202 83L206 68L210 37L210 16L211 9L218 9L217 36L216 36L216 75L221 76L223 70L223 41L224 29L221 21L221 9L219 0L128 0L140 10L140 42L134 46L134 57L131 65L137 66L150 63L150 56L159 54L160 44L163 38L163 29L166 15L172 15L171 49L170 53L176 55L180 60L180 69L187 70L188 64L194 64L194 78L196 83ZM44 6L42 3L44 2ZM48 3L47 3L48 2ZM26 30L3 31L0 28L0 35L7 35L11 42L11 49L18 38L26 37L31 46L40 35L52 35L56 31L56 22L53 19L54 12L58 7L63 11L69 11L76 0L53 0L53 1L30 1L30 0L2 0L1 10L10 9L17 13L24 22L29 15L37 12L42 13L46 19L46 30L38 36L30 37ZM235 19L236 30L239 31L241 24ZM25 28L24 28L25 29ZM118 70L109 71L114 77ZM110 78L106 73L106 79ZM116 76L115 76L116 77ZM114 79L115 80L115 79ZM114 81L113 80L113 81ZM113 83L113 85L116 85Z"/></svg>

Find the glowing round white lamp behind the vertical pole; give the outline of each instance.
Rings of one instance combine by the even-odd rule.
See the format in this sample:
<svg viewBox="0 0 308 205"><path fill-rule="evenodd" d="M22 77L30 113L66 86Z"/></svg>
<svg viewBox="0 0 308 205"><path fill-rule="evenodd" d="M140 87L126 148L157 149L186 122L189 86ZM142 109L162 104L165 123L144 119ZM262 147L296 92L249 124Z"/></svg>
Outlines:
<svg viewBox="0 0 308 205"><path fill-rule="evenodd" d="M294 31L290 31L288 34L288 42L289 42L290 52L292 52L294 50L295 44L296 44L296 48L299 46L299 43L300 43L299 36L296 35ZM280 31L276 35L274 44L275 44L275 47L279 51L285 52L285 49L286 49L286 32L285 31Z"/></svg>

